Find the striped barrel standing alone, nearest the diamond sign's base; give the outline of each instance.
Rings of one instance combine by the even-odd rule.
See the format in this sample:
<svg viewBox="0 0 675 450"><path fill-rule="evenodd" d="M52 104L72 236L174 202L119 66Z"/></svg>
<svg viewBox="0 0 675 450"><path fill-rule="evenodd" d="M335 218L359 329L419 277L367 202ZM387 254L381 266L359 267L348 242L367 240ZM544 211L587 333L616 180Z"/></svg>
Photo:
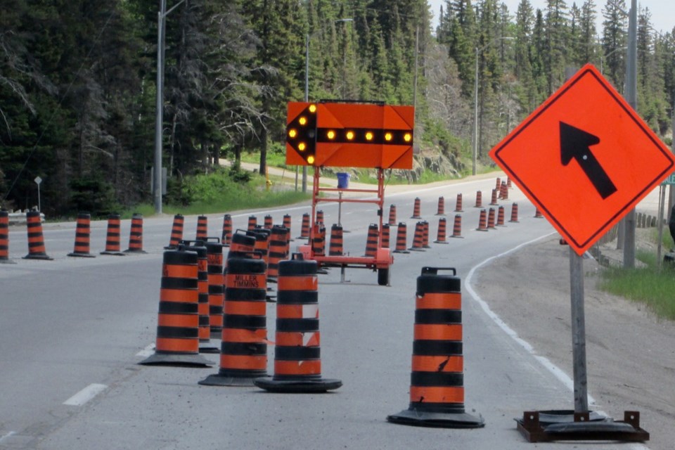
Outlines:
<svg viewBox="0 0 675 450"><path fill-rule="evenodd" d="M451 275L439 271L452 271ZM410 404L394 423L480 428L465 413L461 280L455 269L423 267L417 278Z"/></svg>

